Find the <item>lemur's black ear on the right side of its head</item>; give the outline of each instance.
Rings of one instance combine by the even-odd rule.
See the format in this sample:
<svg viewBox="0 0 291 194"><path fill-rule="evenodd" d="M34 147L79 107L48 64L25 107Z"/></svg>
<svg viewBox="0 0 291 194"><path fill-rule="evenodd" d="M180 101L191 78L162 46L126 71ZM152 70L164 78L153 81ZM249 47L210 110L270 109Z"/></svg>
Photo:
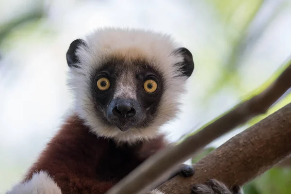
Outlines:
<svg viewBox="0 0 291 194"><path fill-rule="evenodd" d="M182 55L183 61L181 63L178 63L177 65L180 66L184 76L190 77L194 70L192 53L184 47L176 49L175 53Z"/></svg>

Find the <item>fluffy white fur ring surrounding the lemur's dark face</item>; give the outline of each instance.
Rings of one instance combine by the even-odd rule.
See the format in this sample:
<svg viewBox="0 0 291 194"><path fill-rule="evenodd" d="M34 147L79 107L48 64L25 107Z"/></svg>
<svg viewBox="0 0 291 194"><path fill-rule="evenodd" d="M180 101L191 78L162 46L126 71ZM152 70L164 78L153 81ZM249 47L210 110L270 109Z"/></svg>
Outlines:
<svg viewBox="0 0 291 194"><path fill-rule="evenodd" d="M68 85L75 95L74 111L98 136L128 143L156 137L159 128L178 113L179 97L184 92L186 77L178 76L180 71L178 65L175 66L183 58L179 54L173 54L178 46L168 35L129 29L106 28L88 35L86 39L89 49L81 47L77 50L81 68L71 68L69 71ZM122 132L116 127L102 125L94 113L90 78L99 65L111 57L122 57L129 61L143 58L163 73L164 92L157 118L149 127Z"/></svg>

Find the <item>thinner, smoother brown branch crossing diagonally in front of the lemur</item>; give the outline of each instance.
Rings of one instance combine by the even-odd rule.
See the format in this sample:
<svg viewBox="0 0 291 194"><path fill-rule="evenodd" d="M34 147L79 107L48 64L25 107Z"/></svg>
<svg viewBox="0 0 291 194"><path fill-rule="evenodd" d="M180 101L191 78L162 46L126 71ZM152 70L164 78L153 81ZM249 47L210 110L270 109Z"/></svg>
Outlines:
<svg viewBox="0 0 291 194"><path fill-rule="evenodd" d="M191 158L195 152L250 118L265 113L291 87L290 78L291 65L262 93L237 105L177 146L170 146L150 157L106 194L139 194L149 190L173 166Z"/></svg>

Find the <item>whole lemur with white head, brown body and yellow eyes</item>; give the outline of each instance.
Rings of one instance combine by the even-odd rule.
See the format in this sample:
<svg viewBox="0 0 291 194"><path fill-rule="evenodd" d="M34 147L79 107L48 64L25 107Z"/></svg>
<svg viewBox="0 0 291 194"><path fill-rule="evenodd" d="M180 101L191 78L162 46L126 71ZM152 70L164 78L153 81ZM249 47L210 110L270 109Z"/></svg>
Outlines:
<svg viewBox="0 0 291 194"><path fill-rule="evenodd" d="M178 113L194 70L192 53L171 36L138 29L99 29L74 40L66 60L74 111L7 194L104 194L167 145L159 129ZM239 189L210 180L192 193Z"/></svg>

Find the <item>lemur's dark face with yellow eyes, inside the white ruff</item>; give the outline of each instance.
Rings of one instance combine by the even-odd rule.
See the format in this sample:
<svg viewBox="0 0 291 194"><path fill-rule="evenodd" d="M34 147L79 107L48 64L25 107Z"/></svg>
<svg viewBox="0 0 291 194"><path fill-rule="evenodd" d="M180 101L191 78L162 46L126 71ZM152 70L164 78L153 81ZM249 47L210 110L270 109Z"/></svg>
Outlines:
<svg viewBox="0 0 291 194"><path fill-rule="evenodd" d="M157 116L163 78L147 63L113 58L96 69L91 93L96 113L105 125L125 132L145 128Z"/></svg>

